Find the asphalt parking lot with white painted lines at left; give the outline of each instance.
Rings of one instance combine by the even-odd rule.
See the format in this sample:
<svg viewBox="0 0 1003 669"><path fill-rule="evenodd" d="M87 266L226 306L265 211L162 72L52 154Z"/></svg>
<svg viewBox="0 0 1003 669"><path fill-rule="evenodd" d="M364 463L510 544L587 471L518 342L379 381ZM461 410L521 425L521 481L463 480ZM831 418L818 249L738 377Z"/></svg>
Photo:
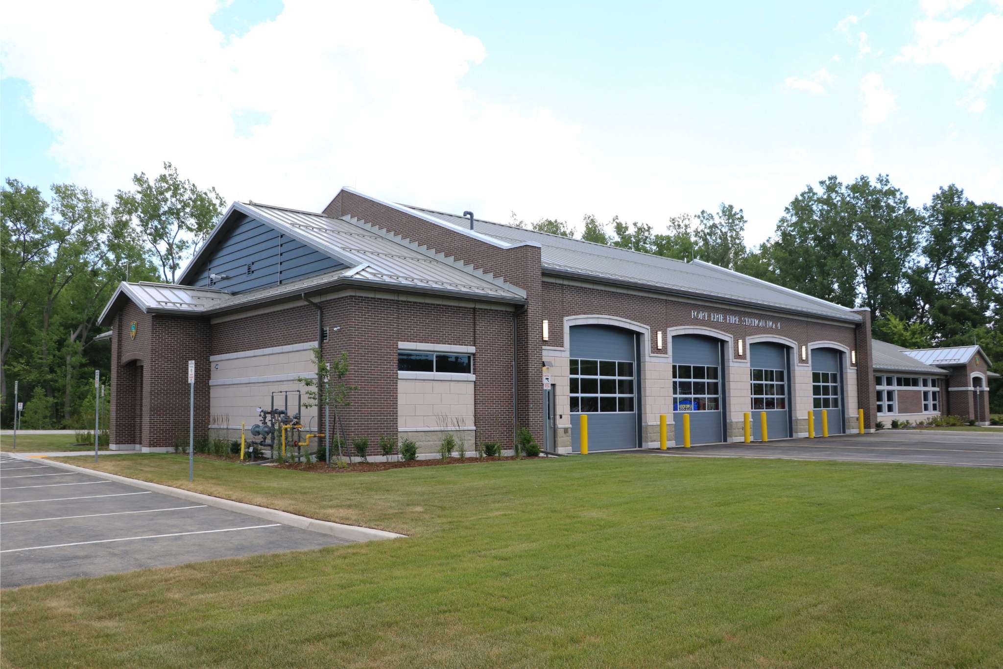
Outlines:
<svg viewBox="0 0 1003 669"><path fill-rule="evenodd" d="M0 455L0 587L346 540Z"/></svg>

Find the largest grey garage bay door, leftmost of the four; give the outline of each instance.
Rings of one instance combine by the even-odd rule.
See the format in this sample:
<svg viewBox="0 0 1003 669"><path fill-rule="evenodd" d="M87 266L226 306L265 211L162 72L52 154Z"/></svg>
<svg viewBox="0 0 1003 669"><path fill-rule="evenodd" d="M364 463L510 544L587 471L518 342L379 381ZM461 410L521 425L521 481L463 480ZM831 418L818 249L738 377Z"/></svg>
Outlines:
<svg viewBox="0 0 1003 669"><path fill-rule="evenodd" d="M571 328L572 448L581 450L580 418L589 416L589 450L639 444L637 342L630 330L605 325Z"/></svg>

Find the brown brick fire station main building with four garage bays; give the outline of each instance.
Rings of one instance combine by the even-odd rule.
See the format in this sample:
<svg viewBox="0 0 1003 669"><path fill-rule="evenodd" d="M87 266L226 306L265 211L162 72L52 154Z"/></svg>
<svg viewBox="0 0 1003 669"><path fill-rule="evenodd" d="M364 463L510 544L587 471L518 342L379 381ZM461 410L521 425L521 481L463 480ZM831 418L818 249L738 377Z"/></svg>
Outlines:
<svg viewBox="0 0 1003 669"><path fill-rule="evenodd" d="M887 408L866 310L349 189L322 213L235 203L178 285L122 283L100 323L112 448L171 448L187 433L189 360L196 436L234 435L303 390L314 347L347 354L357 389L339 417L374 451L386 435L429 454L445 432L467 450L511 447L527 427L575 452L582 414L593 449L656 446L662 414L670 444L685 415L694 443L740 439L747 411L765 413L771 438L801 436L809 411L843 432L860 429L859 408L874 429L876 397ZM950 379L948 392L964 380ZM307 427L324 420L302 409Z"/></svg>

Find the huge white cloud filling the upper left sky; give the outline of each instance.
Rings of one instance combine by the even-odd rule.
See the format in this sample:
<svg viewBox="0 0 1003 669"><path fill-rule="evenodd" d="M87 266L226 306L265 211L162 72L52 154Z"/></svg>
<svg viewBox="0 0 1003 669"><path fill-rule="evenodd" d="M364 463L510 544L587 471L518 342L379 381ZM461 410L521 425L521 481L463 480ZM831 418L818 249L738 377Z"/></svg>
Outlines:
<svg viewBox="0 0 1003 669"><path fill-rule="evenodd" d="M5 9L3 75L30 83L32 113L54 131L50 152L73 181L109 197L169 159L230 199L314 209L357 186L500 212L513 203L492 199L514 192L522 211L544 210L603 181L577 125L462 85L484 45L427 2L287 0L232 38L210 23L216 8Z"/></svg>

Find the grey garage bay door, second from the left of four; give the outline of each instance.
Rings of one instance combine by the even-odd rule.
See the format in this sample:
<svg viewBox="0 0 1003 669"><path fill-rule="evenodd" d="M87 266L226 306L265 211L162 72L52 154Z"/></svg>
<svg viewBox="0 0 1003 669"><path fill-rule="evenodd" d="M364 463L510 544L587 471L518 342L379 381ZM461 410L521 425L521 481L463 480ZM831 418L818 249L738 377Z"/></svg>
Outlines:
<svg viewBox="0 0 1003 669"><path fill-rule="evenodd" d="M724 383L721 343L699 335L672 338L672 416L676 443L683 443L683 415L690 416L690 443L723 441Z"/></svg>

